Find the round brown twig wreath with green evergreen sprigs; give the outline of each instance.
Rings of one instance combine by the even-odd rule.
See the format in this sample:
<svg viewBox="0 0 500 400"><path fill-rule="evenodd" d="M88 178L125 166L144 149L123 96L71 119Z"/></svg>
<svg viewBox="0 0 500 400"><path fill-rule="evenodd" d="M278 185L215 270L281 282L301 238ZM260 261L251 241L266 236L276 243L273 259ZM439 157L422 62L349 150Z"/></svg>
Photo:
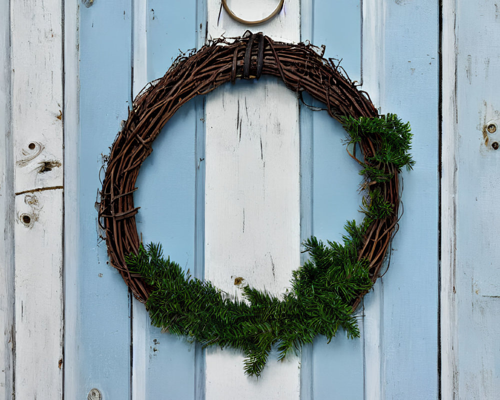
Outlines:
<svg viewBox="0 0 500 400"><path fill-rule="evenodd" d="M219 39L179 57L135 98L111 147L102 184L99 223L110 262L145 303L151 323L203 346L240 349L250 375L261 373L275 343L282 359L318 334L331 339L339 327L350 337L359 335L352 312L379 275L397 229L398 172L413 164L409 123L394 114L378 115L367 93L316 49L247 32L233 42ZM151 143L182 104L225 82L261 74L280 77L296 93L307 91L343 124L351 144L347 152L362 166L364 219L346 223L343 243L305 240L310 260L293 272L291 288L280 298L246 286L244 300L237 300L165 259L159 244L143 246L133 192ZM360 148L362 156L349 151L352 147Z"/></svg>

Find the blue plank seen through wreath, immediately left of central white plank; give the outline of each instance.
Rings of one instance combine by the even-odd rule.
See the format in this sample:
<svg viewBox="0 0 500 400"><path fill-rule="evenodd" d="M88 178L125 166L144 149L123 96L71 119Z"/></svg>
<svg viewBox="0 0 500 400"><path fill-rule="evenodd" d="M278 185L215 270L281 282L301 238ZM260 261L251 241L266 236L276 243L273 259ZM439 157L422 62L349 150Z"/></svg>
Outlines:
<svg viewBox="0 0 500 400"><path fill-rule="evenodd" d="M195 47L195 11L195 0L148 1L147 80L162 76L179 49ZM141 206L136 220L144 242L160 242L165 255L190 271L195 251L196 115L195 100L167 122L141 166L134 195ZM144 398L193 398L195 345L154 326L145 329Z"/></svg>

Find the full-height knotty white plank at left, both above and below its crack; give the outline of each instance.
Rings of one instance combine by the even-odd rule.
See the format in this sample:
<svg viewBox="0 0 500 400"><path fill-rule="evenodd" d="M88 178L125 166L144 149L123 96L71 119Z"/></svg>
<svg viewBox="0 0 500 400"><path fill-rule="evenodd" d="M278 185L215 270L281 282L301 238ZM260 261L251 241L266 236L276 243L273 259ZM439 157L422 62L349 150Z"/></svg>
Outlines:
<svg viewBox="0 0 500 400"><path fill-rule="evenodd" d="M10 5L15 397L61 398L62 5Z"/></svg>

